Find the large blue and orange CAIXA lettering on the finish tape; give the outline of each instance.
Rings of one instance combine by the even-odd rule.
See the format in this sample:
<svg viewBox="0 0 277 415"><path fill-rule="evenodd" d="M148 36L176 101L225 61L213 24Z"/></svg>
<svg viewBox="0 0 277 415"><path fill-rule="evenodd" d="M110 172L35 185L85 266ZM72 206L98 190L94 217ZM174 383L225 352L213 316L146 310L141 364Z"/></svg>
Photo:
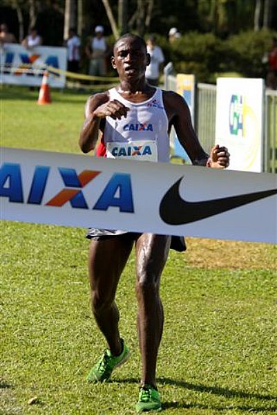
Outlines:
<svg viewBox="0 0 277 415"><path fill-rule="evenodd" d="M28 194L24 194L23 189L27 186L23 186L24 177L20 164L4 163L0 168L0 197L8 198L12 203L61 208L69 202L72 208L90 209L82 189L102 172L84 170L77 174L75 169L58 167L65 187L43 203L51 169L53 167L36 166L32 174L30 190ZM113 174L92 209L108 210L110 206L116 206L120 212L134 212L130 174Z"/></svg>

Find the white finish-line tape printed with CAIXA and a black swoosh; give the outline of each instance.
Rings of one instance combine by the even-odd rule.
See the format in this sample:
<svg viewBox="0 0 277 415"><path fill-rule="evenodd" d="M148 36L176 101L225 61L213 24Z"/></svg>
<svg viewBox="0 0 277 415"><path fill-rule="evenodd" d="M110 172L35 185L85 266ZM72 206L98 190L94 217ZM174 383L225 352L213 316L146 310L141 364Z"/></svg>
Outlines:
<svg viewBox="0 0 277 415"><path fill-rule="evenodd" d="M277 242L276 174L1 148L1 219Z"/></svg>

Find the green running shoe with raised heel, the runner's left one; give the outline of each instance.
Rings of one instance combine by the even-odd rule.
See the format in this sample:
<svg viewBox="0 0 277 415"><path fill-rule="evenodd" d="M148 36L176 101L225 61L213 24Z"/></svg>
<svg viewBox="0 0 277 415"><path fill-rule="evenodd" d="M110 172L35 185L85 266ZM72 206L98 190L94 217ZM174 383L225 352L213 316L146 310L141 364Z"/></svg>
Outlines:
<svg viewBox="0 0 277 415"><path fill-rule="evenodd" d="M123 365L129 356L129 349L122 339L122 353L120 356L113 356L111 350L106 349L97 364L90 370L87 378L88 382L106 382L111 378L113 369Z"/></svg>

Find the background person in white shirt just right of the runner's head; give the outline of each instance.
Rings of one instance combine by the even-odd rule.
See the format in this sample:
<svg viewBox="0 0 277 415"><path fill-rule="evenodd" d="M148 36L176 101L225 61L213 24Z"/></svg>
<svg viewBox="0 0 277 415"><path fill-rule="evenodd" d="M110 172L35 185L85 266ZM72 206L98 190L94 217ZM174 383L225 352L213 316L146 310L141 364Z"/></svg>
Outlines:
<svg viewBox="0 0 277 415"><path fill-rule="evenodd" d="M146 66L145 76L149 84L157 86L159 83L160 72L162 71L162 64L164 63L164 54L160 46L156 45L155 36L151 35L146 42L147 53L151 57L149 66Z"/></svg>

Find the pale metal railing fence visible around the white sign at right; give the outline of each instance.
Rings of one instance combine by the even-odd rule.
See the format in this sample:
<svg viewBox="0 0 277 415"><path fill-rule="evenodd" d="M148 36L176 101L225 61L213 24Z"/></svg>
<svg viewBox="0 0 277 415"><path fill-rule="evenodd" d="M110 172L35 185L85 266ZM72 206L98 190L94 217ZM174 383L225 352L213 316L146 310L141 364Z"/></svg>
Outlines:
<svg viewBox="0 0 277 415"><path fill-rule="evenodd" d="M164 88L176 91L176 78L164 76ZM195 93L195 131L209 153L216 137L216 85L197 84ZM263 171L277 173L277 91L265 91Z"/></svg>

